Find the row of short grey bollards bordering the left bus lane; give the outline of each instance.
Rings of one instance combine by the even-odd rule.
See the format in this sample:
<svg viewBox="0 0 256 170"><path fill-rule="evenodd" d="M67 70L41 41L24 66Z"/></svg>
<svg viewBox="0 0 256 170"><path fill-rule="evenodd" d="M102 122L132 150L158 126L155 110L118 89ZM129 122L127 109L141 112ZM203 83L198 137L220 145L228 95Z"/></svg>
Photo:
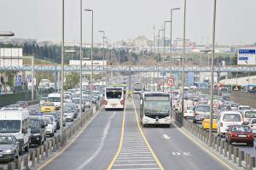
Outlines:
<svg viewBox="0 0 256 170"><path fill-rule="evenodd" d="M33 100L31 103L33 102L36 102L36 100ZM102 105L103 99L100 99L96 103L95 111L99 111ZM91 116L93 116L93 112L85 112L81 119L76 120L70 127L65 128L61 135L58 134L52 139L45 141L44 144L37 149L30 150L22 157L22 159L19 156L15 162L9 162L5 166L1 166L0 170L29 170L36 168L40 163L46 161L51 155L53 155L54 152L61 150L65 144L68 144L68 140L73 138L79 129L90 120Z"/></svg>

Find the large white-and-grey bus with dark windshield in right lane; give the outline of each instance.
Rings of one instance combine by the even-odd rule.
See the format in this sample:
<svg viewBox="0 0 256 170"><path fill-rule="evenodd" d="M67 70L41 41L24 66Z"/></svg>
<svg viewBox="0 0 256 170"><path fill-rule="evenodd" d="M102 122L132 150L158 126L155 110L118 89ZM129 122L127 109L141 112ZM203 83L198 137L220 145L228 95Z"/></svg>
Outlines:
<svg viewBox="0 0 256 170"><path fill-rule="evenodd" d="M171 126L171 96L164 92L141 94L140 118L143 127L149 124Z"/></svg>

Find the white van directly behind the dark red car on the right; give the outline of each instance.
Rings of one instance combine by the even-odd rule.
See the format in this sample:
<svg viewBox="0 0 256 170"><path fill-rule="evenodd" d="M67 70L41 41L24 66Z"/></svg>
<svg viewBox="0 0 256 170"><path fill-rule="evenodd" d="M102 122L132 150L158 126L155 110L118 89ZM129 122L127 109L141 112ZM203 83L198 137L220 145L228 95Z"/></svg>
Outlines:
<svg viewBox="0 0 256 170"><path fill-rule="evenodd" d="M230 126L242 125L241 113L238 111L222 111L218 117L217 133L218 136L225 135Z"/></svg>

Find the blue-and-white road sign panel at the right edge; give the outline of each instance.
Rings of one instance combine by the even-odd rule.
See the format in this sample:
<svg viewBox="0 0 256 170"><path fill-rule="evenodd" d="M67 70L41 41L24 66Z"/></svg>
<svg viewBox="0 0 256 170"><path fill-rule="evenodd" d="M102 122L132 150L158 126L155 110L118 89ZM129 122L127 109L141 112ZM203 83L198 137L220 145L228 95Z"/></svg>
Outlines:
<svg viewBox="0 0 256 170"><path fill-rule="evenodd" d="M239 49L237 56L237 65L256 65L255 49Z"/></svg>

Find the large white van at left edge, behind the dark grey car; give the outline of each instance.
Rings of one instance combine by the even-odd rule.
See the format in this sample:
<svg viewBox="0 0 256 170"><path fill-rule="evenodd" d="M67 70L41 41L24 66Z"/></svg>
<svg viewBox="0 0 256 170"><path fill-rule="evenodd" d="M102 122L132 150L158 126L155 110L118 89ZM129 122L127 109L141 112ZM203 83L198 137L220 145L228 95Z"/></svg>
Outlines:
<svg viewBox="0 0 256 170"><path fill-rule="evenodd" d="M31 138L29 111L13 109L0 111L0 134L12 134L20 142L20 153L28 151Z"/></svg>

